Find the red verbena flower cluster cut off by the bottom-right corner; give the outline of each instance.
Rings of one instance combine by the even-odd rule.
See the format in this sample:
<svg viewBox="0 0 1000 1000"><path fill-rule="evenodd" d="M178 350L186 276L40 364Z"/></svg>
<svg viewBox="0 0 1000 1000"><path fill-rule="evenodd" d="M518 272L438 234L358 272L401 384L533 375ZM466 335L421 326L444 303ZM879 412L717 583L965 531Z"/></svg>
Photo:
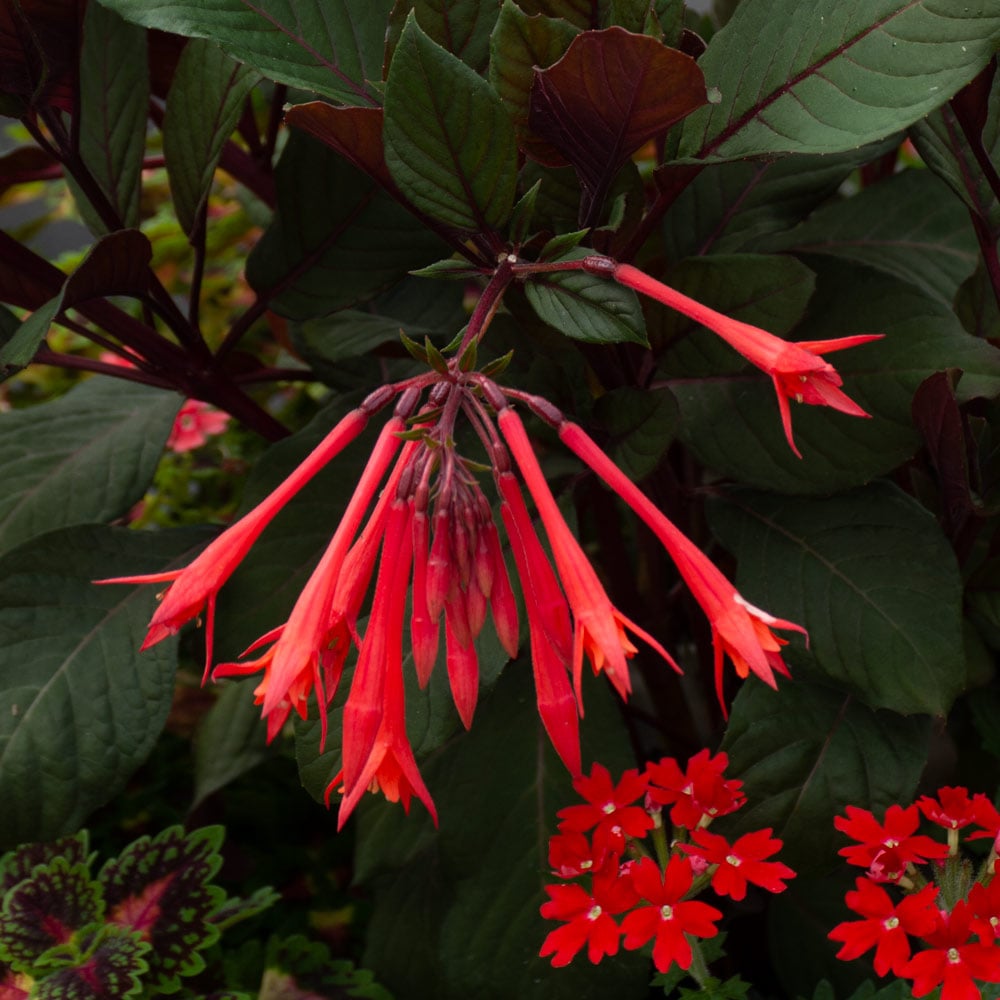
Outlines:
<svg viewBox="0 0 1000 1000"><path fill-rule="evenodd" d="M941 1000L979 1000L980 984L1000 983L1000 812L985 795L950 787L890 806L881 822L846 811L834 825L856 843L840 854L866 872L846 897L861 919L830 932L842 944L837 957L875 949L875 971L912 980L915 997L940 986ZM921 815L947 831L946 843L917 832ZM963 836L990 841L984 860L962 855Z"/></svg>

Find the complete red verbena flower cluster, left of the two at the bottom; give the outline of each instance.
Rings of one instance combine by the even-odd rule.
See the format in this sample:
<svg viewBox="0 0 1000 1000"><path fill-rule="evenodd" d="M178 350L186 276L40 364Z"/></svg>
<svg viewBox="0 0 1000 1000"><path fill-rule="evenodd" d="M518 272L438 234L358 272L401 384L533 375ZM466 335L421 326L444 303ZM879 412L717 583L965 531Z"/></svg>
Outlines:
<svg viewBox="0 0 1000 1000"><path fill-rule="evenodd" d="M559 832L549 841L552 874L562 881L545 887L541 913L561 926L545 938L542 957L567 965L586 947L597 963L619 943L637 949L652 942L660 972L674 963L689 969L692 939L714 937L722 918L694 896L711 887L740 900L750 885L786 888L795 872L768 860L781 849L770 828L732 843L707 829L746 801L743 783L725 777L728 763L724 753L702 750L687 768L664 757L615 783L594 764L573 782L584 804L560 810Z"/></svg>

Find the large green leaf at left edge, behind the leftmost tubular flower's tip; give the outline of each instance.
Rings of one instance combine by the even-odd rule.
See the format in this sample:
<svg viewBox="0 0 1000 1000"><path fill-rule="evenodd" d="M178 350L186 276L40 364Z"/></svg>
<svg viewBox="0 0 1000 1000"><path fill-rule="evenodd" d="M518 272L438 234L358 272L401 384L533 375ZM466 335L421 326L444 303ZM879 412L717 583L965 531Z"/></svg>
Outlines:
<svg viewBox="0 0 1000 1000"><path fill-rule="evenodd" d="M176 640L140 654L153 588L92 581L183 565L202 537L81 526L0 559L0 845L77 829L145 760L170 709Z"/></svg>

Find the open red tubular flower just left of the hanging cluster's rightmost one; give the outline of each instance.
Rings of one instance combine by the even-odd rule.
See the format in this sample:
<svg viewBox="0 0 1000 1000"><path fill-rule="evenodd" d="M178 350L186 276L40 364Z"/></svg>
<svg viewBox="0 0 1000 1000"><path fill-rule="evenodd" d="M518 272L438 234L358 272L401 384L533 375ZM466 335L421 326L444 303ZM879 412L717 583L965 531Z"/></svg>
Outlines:
<svg viewBox="0 0 1000 1000"><path fill-rule="evenodd" d="M538 513L545 525L559 569L559 578L573 610L573 686L580 699L583 654L586 652L594 673L604 671L624 698L631 690L626 661L636 648L625 629L631 629L649 643L678 673L673 657L645 630L626 618L612 605L579 543L563 519L538 459L532 450L521 418L509 407L500 410L497 422L511 454L524 477Z"/></svg>

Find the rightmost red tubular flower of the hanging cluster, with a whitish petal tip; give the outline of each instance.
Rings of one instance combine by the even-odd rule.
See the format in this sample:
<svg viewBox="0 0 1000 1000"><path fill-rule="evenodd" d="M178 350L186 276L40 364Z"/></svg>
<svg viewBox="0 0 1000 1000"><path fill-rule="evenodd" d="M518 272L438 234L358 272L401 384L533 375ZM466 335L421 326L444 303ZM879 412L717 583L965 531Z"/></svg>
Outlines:
<svg viewBox="0 0 1000 1000"><path fill-rule="evenodd" d="M752 671L765 684L776 688L775 673L789 676L781 658L781 648L788 640L779 638L771 630L792 629L808 636L806 630L795 622L775 618L745 600L708 556L657 509L582 428L564 420L559 425L559 438L642 518L670 553L684 582L707 615L715 650L715 690L723 713L726 706L722 693L722 664L727 655L740 677L747 677Z"/></svg>

